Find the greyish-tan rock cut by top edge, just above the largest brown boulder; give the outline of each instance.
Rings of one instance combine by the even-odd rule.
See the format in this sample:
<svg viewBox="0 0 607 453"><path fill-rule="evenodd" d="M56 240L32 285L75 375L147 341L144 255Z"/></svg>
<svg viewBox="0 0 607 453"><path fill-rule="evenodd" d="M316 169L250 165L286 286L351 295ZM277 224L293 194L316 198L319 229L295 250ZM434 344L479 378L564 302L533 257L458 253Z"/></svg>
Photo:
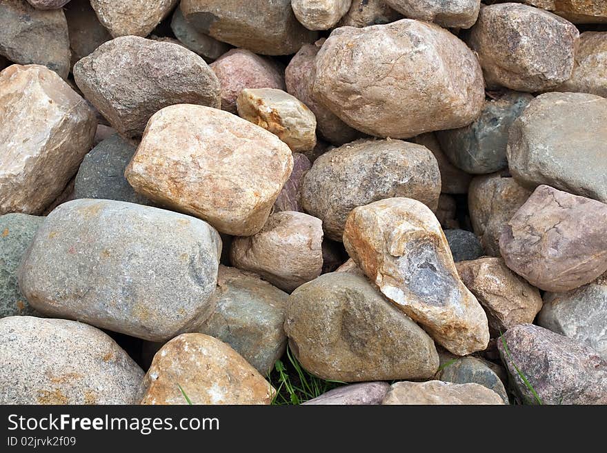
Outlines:
<svg viewBox="0 0 607 453"><path fill-rule="evenodd" d="M481 0L382 0L410 19L431 21L445 28L470 28L477 21Z"/></svg>

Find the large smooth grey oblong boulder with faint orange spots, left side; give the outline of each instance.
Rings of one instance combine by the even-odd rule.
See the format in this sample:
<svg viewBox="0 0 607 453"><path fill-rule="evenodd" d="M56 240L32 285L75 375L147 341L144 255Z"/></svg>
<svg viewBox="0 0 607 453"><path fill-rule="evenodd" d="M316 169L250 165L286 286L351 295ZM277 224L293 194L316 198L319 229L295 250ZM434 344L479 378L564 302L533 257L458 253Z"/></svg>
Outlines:
<svg viewBox="0 0 607 453"><path fill-rule="evenodd" d="M39 228L19 287L43 314L166 341L212 313L220 253L219 234L198 219L74 200Z"/></svg>

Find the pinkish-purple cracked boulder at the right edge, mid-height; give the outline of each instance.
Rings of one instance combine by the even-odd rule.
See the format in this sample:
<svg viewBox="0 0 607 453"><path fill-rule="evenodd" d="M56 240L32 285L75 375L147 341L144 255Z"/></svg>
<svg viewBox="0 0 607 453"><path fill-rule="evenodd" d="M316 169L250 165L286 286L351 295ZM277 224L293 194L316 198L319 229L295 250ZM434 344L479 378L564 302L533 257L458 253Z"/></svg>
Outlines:
<svg viewBox="0 0 607 453"><path fill-rule="evenodd" d="M607 272L607 204L540 185L501 233L499 250L541 290L590 283Z"/></svg>

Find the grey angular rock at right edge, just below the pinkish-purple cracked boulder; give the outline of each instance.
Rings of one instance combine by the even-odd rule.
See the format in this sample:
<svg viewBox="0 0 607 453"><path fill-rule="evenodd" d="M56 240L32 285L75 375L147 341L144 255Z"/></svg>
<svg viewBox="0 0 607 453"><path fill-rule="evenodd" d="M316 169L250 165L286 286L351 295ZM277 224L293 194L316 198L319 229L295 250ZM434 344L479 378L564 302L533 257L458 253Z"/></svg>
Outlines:
<svg viewBox="0 0 607 453"><path fill-rule="evenodd" d="M576 290L544 294L537 323L586 343L607 360L607 274Z"/></svg>

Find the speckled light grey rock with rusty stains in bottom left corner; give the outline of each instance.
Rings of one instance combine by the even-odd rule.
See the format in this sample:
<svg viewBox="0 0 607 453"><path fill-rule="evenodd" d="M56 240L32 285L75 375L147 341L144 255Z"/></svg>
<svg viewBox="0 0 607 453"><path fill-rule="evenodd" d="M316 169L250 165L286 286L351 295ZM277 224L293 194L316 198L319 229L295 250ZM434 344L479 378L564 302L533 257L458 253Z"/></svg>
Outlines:
<svg viewBox="0 0 607 453"><path fill-rule="evenodd" d="M108 335L66 319L0 319L0 362L1 404L137 404L143 378Z"/></svg>

